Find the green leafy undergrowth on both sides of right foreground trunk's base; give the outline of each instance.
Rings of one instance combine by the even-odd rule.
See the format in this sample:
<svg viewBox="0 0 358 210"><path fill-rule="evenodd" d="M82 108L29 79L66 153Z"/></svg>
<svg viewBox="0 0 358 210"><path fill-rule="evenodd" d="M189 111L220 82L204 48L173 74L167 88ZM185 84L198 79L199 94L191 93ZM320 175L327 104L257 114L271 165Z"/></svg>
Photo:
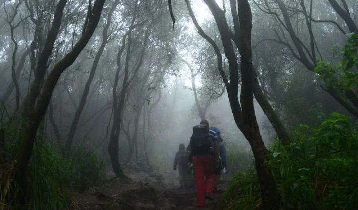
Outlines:
<svg viewBox="0 0 358 210"><path fill-rule="evenodd" d="M286 147L275 142L268 163L281 194L281 207L356 209L358 124L352 126L347 116L332 113L319 126L300 126L292 140ZM235 206L228 209L251 209L253 196L260 191L255 187L247 189L248 185L258 184L257 178L248 174L234 176L231 186L241 189L241 195L233 196L229 188L222 202Z"/></svg>

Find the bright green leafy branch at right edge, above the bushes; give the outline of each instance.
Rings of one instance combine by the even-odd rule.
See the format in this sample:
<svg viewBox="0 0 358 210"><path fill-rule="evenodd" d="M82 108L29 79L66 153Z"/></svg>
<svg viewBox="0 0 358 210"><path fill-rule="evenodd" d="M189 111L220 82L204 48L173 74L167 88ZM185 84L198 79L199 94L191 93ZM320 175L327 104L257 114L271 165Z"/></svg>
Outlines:
<svg viewBox="0 0 358 210"><path fill-rule="evenodd" d="M346 43L341 51L342 60L332 64L323 58L318 60L315 72L321 75L327 86L332 86L344 92L358 90L358 34L350 33L346 36Z"/></svg>

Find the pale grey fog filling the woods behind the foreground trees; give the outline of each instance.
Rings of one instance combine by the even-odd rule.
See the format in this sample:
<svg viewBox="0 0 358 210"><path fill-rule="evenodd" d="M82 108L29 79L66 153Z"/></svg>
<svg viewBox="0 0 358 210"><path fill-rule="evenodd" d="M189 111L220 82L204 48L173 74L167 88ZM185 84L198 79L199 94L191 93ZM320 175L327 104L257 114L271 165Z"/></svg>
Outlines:
<svg viewBox="0 0 358 210"><path fill-rule="evenodd" d="M108 170L112 170L116 158L122 166L146 162L145 167L154 170L171 170L173 154L180 143L188 145L192 127L203 116L210 126L222 130L224 142L231 145L229 150L242 149L252 156L249 141L238 127L239 121L234 120L227 87L217 68L217 55L197 33L184 1L172 3L176 18L173 26L165 0L107 0L93 35L83 49L77 49L77 43L86 43L82 38L93 23L86 23L89 1L70 0L53 49L46 52L51 45L49 31L56 23L57 2L1 1L1 119L16 116L18 122L26 122L39 117L38 126L31 127L37 131L36 143L63 155L77 147L96 151ZM223 2L229 28L234 31L229 1L217 0L221 9ZM352 115L355 112L346 109L344 100L322 89L326 81L314 72L320 58L333 63L339 60L337 52L345 42L345 33L352 32L349 25L325 0L315 0L311 5L302 1L307 7L305 12L310 8L312 18L322 22L306 19L307 13L302 13L298 0L282 2L287 8L297 9L288 10L290 23L273 1L250 1L252 66L272 110L289 131L300 124L318 122L319 117L312 112ZM347 4L350 18L357 25L358 3L350 0ZM212 13L203 2L193 3L192 8L221 52L226 79L234 83ZM288 31L291 28L294 35ZM71 54L74 49L80 53ZM240 63L238 48L233 51ZM66 55L73 61L68 62ZM66 62L69 65L61 69ZM58 69L59 73L54 73L58 77L51 78ZM241 75L236 82L240 101ZM49 93L47 84L54 85ZM31 91L37 94L32 105L27 101ZM42 106L47 96L51 99ZM269 148L277 134L264 114L266 108L256 97L256 121Z"/></svg>

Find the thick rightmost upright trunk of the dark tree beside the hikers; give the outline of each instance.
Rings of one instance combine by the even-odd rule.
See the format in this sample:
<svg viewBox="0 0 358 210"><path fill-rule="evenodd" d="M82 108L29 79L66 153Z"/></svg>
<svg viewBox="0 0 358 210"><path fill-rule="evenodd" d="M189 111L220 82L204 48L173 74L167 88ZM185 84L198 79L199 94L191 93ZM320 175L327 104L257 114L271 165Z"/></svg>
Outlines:
<svg viewBox="0 0 358 210"><path fill-rule="evenodd" d="M276 183L271 169L267 165L268 152L261 138L259 126L256 121L253 102L253 82L255 75L252 66L251 55L251 29L252 14L250 4L247 0L238 1L238 15L240 22L239 43L240 43L240 72L241 72L241 93L240 102L243 109L244 131L251 145L254 157L256 172L259 177L261 198L265 209L278 209L280 196L276 190ZM255 78L256 75L255 75Z"/></svg>

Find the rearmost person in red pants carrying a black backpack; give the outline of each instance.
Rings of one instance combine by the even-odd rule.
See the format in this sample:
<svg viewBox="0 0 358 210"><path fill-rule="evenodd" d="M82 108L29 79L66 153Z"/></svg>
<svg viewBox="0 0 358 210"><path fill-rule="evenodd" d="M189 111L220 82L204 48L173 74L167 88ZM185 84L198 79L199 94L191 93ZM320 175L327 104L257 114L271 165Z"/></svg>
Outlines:
<svg viewBox="0 0 358 210"><path fill-rule="evenodd" d="M209 130L209 122L202 120L193 127L190 138L190 161L194 163L196 206L205 206L205 198L214 200L214 163L218 165L219 145L216 133Z"/></svg>

